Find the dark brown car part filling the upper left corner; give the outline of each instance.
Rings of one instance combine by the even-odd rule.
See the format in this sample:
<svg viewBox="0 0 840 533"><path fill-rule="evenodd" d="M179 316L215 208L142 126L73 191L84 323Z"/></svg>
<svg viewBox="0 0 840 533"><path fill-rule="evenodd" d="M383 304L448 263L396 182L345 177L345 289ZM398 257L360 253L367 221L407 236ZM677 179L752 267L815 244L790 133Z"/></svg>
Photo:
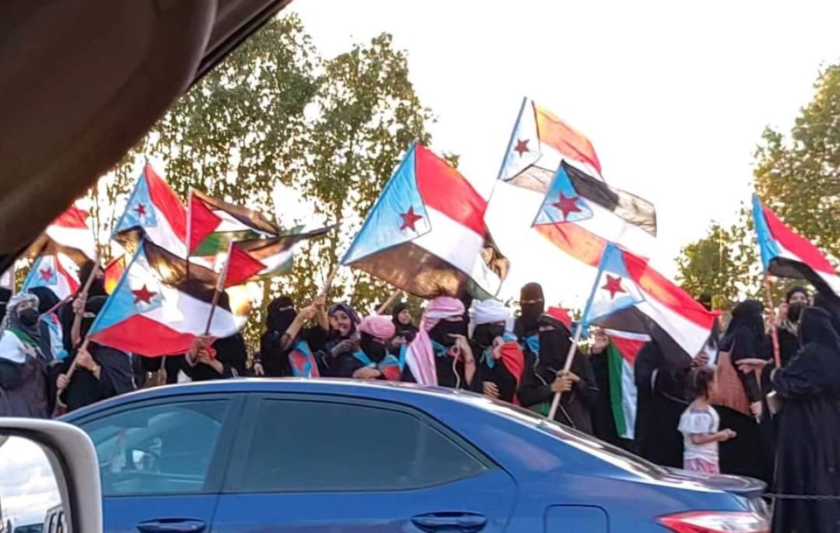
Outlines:
<svg viewBox="0 0 840 533"><path fill-rule="evenodd" d="M0 271L290 1L0 3Z"/></svg>

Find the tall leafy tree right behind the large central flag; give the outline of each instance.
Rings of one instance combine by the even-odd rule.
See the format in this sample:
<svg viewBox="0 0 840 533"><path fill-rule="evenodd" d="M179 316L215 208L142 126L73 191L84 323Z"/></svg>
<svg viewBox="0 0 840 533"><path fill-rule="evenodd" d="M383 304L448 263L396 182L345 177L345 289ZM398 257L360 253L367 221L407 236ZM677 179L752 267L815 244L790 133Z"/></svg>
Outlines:
<svg viewBox="0 0 840 533"><path fill-rule="evenodd" d="M316 199L316 212L332 217L340 229L338 238L309 248L301 258L302 270L315 274L297 278L298 290L306 295L336 269L412 141L428 143L425 125L432 118L408 79L405 53L393 49L389 34L355 45L328 60L324 70L302 192ZM346 270L334 287L336 299L350 300L363 313L374 311L375 302L393 290L368 274Z"/></svg>

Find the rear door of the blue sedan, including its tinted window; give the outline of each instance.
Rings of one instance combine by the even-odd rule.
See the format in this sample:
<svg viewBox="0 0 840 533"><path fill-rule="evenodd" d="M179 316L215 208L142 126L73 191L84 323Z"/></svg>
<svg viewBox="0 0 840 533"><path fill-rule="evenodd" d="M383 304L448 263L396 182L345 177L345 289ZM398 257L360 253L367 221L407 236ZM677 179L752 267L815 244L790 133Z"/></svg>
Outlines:
<svg viewBox="0 0 840 533"><path fill-rule="evenodd" d="M254 395L213 518L218 533L505 530L517 486L422 411Z"/></svg>

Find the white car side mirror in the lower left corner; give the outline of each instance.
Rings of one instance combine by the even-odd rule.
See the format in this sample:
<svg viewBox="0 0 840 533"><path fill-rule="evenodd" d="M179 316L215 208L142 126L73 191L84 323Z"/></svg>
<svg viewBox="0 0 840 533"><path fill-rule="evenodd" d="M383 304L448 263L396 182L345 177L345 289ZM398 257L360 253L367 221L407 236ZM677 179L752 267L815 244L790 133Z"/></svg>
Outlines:
<svg viewBox="0 0 840 533"><path fill-rule="evenodd" d="M18 528L102 533L97 453L76 426L0 417L0 533Z"/></svg>

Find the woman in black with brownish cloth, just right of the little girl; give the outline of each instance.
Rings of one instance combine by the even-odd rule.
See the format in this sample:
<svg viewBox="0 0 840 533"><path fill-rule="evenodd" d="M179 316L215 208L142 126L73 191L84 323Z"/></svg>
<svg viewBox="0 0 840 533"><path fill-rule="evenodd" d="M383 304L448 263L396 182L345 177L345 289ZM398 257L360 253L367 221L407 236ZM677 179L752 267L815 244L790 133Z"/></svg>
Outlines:
<svg viewBox="0 0 840 533"><path fill-rule="evenodd" d="M753 413L764 395L755 374L745 374L737 368L738 361L743 359L771 358L763 313L764 306L758 300L745 300L732 310L732 320L720 343L717 387L710 401L721 416L721 427L738 434L737 438L720 444L721 473L769 482L772 459L767 439L772 438L769 436L772 432L763 436L763 428Z"/></svg>

